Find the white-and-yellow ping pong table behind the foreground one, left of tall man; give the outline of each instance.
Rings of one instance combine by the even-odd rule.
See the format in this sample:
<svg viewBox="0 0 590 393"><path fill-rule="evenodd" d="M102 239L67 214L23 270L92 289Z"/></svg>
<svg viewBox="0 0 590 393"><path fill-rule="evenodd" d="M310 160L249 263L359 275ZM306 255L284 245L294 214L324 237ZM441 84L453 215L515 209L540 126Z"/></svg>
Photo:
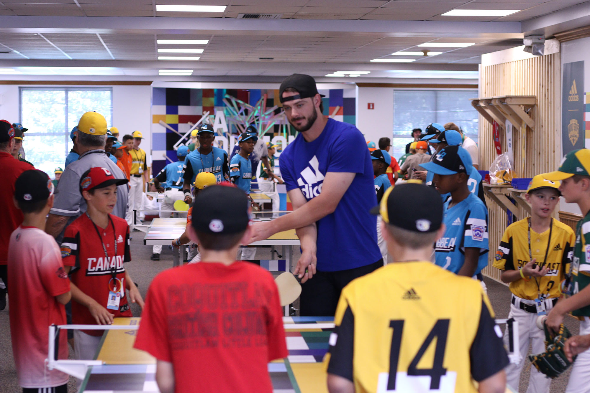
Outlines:
<svg viewBox="0 0 590 393"><path fill-rule="evenodd" d="M270 221L269 218L255 219L254 221ZM170 245L172 240L180 237L186 228L186 219L153 219L152 224L148 227L148 232L143 237L144 245ZM287 267L291 271L293 260L293 246L299 246L301 242L294 229L275 233L266 240L259 240L251 243L250 246L281 246L282 255L285 257ZM172 249L172 265L181 265L181 257L185 255L186 245L181 245L180 249Z"/></svg>

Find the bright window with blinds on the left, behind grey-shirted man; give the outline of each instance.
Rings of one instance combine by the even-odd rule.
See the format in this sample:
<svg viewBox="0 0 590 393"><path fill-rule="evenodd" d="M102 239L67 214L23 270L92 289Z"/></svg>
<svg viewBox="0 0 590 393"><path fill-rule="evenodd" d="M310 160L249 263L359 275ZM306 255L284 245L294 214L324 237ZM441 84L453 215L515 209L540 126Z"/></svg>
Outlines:
<svg viewBox="0 0 590 393"><path fill-rule="evenodd" d="M21 87L21 121L28 128L22 147L25 158L53 179L55 167L64 167L73 143L70 131L81 115L96 111L113 123L112 88Z"/></svg>

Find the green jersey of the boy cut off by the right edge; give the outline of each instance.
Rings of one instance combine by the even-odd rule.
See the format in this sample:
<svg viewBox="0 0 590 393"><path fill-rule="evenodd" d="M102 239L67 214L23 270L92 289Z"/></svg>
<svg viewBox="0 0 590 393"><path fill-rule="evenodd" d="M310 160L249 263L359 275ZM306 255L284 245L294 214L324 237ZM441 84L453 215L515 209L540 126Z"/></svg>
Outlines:
<svg viewBox="0 0 590 393"><path fill-rule="evenodd" d="M576 227L576 243L572 258L573 294L590 283L590 212L579 220ZM575 316L590 316L590 305L572 311Z"/></svg>

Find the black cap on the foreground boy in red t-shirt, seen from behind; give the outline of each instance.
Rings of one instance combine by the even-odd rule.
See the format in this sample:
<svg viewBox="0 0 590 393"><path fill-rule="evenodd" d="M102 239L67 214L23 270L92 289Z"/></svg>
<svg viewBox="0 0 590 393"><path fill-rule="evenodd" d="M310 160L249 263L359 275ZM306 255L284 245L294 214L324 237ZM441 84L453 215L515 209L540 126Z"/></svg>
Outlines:
<svg viewBox="0 0 590 393"><path fill-rule="evenodd" d="M240 233L246 230L250 222L250 201L244 191L238 188L207 187L197 194L195 206L206 207L192 216L192 227L198 232L219 235Z"/></svg>

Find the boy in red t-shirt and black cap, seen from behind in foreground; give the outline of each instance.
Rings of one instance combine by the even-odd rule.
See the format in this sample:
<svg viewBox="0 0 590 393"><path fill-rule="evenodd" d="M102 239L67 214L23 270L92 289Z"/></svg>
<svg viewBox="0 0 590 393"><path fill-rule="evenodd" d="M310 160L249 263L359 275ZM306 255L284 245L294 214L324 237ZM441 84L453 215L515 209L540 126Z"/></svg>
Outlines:
<svg viewBox="0 0 590 393"><path fill-rule="evenodd" d="M165 270L148 289L135 348L157 359L160 392L271 393L268 362L287 356L277 286L267 270L235 262L250 238L244 191L199 191L189 237L201 262Z"/></svg>

